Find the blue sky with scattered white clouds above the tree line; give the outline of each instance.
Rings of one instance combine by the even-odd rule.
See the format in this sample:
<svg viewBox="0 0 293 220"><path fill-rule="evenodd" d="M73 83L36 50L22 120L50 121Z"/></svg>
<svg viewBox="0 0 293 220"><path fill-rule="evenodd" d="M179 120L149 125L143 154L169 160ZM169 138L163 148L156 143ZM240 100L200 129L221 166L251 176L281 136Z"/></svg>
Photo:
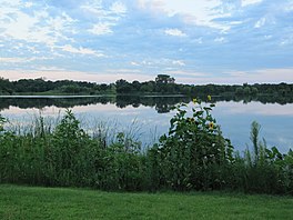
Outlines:
<svg viewBox="0 0 293 220"><path fill-rule="evenodd" d="M0 77L293 83L293 0L0 0Z"/></svg>

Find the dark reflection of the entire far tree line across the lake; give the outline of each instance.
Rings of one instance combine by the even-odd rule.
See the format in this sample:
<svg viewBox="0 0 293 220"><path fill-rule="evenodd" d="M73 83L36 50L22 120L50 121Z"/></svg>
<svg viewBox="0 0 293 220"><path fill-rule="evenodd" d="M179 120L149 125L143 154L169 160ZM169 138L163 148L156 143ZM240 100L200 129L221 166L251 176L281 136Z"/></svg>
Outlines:
<svg viewBox="0 0 293 220"><path fill-rule="evenodd" d="M205 98L203 98L204 100ZM192 98L183 96L27 96L27 97L4 97L0 96L0 111L9 109L9 107L19 107L20 109L46 107L58 108L73 108L75 106L89 106L89 104L115 104L118 108L125 108L132 106L139 108L141 106L153 107L158 113L170 112L170 110L180 102L190 102ZM213 97L213 101L233 101L247 104L250 102L257 102L262 104L287 104L293 103L293 97Z"/></svg>

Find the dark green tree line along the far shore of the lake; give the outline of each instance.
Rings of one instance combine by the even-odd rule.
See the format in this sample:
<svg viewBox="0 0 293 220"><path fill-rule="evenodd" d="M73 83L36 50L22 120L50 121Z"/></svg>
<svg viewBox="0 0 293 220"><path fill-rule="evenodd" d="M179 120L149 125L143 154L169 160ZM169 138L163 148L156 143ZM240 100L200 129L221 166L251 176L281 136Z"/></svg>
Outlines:
<svg viewBox="0 0 293 220"><path fill-rule="evenodd" d="M50 81L42 78L10 81L0 78L0 94L182 94L182 96L238 96L238 97L290 97L292 83L243 84L182 84L169 74L158 74L154 80L114 83L95 83L73 80Z"/></svg>

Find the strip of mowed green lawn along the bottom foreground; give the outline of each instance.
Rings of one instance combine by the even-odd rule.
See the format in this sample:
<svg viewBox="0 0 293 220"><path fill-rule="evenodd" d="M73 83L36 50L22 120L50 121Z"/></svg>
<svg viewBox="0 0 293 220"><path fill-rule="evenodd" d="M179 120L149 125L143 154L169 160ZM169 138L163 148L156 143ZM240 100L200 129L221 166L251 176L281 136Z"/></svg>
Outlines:
<svg viewBox="0 0 293 220"><path fill-rule="evenodd" d="M0 186L0 219L292 219L293 198Z"/></svg>

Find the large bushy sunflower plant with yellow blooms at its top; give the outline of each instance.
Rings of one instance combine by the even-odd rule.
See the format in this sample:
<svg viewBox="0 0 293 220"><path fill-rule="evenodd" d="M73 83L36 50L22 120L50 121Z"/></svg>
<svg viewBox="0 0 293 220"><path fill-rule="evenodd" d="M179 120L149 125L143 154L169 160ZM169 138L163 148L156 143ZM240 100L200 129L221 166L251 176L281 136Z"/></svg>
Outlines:
<svg viewBox="0 0 293 220"><path fill-rule="evenodd" d="M232 162L233 147L211 114L214 107L210 96L206 102L193 99L191 111L185 103L175 107L169 132L156 146L160 182L176 190L208 190L225 184L221 168Z"/></svg>

